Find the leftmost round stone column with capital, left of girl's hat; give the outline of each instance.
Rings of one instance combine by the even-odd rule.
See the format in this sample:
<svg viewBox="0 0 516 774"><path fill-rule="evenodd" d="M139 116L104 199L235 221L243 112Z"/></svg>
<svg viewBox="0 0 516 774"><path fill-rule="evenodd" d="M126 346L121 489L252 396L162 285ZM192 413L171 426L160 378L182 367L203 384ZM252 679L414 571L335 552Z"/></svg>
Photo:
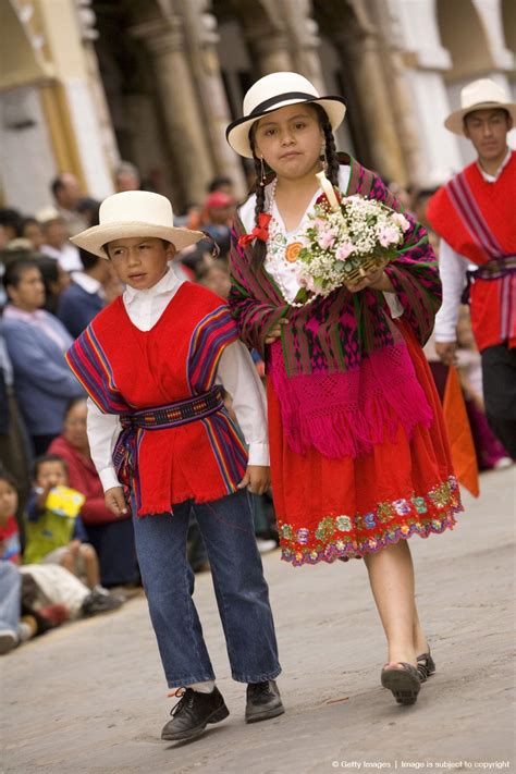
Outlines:
<svg viewBox="0 0 516 774"><path fill-rule="evenodd" d="M153 65L169 144L181 181L184 201L202 202L206 185L214 174L205 121L185 52L183 24L179 16L145 22L131 29L144 40Z"/></svg>

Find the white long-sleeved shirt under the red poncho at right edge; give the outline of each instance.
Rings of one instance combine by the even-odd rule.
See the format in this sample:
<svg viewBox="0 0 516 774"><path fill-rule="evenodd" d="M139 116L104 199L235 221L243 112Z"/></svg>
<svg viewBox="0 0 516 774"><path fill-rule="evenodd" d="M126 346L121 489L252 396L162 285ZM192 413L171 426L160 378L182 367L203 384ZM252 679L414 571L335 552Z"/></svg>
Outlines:
<svg viewBox="0 0 516 774"><path fill-rule="evenodd" d="M488 172L478 164L482 177L488 183L495 183L509 162L511 155L512 150L509 148L494 175L488 174ZM443 303L435 316L437 342L456 341L458 306L464 287L466 286L466 272L468 269L475 268L475 263L470 263L465 256L454 250L447 242L441 239L439 247L439 273L443 285Z"/></svg>

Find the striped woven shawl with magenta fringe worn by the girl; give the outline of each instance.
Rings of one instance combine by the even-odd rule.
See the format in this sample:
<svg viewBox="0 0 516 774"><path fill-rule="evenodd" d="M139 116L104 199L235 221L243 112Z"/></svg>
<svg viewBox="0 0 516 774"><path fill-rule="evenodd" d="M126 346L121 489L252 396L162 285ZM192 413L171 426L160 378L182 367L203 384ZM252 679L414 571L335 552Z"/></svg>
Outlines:
<svg viewBox="0 0 516 774"><path fill-rule="evenodd" d="M401 211L400 202L373 172L344 157L351 167L344 195L360 194ZM441 303L437 261L425 229L405 213L410 229L396 260L385 269L403 307L403 320L421 345ZM263 267L251 268L251 247L234 223L230 308L242 337L265 358L280 400L291 447L310 446L329 457L369 453L400 423L410 435L432 413L416 379L407 347L383 293L345 287L305 307L291 307ZM281 341L267 346L268 331L281 319Z"/></svg>

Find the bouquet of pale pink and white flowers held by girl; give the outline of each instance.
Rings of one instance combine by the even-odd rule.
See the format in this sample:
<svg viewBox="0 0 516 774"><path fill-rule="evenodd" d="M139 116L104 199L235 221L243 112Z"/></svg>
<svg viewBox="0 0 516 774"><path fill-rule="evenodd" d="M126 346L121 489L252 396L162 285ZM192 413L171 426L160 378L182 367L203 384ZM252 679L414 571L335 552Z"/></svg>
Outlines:
<svg viewBox="0 0 516 774"><path fill-rule="evenodd" d="M322 175L318 176L324 193L316 201L297 255L302 290L296 300L302 304L382 269L396 257L410 226L403 214L378 199L354 195L339 200Z"/></svg>

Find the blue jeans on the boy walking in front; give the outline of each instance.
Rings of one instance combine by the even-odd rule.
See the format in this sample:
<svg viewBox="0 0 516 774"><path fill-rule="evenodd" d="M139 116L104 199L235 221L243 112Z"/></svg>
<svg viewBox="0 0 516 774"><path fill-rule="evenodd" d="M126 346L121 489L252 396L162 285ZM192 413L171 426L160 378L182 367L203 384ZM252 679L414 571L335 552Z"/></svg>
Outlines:
<svg viewBox="0 0 516 774"><path fill-rule="evenodd" d="M273 679L281 666L269 590L249 494L241 490L211 503L174 505L173 514L134 518L142 579L169 688L214 679L186 560L192 509L208 551L233 679Z"/></svg>

